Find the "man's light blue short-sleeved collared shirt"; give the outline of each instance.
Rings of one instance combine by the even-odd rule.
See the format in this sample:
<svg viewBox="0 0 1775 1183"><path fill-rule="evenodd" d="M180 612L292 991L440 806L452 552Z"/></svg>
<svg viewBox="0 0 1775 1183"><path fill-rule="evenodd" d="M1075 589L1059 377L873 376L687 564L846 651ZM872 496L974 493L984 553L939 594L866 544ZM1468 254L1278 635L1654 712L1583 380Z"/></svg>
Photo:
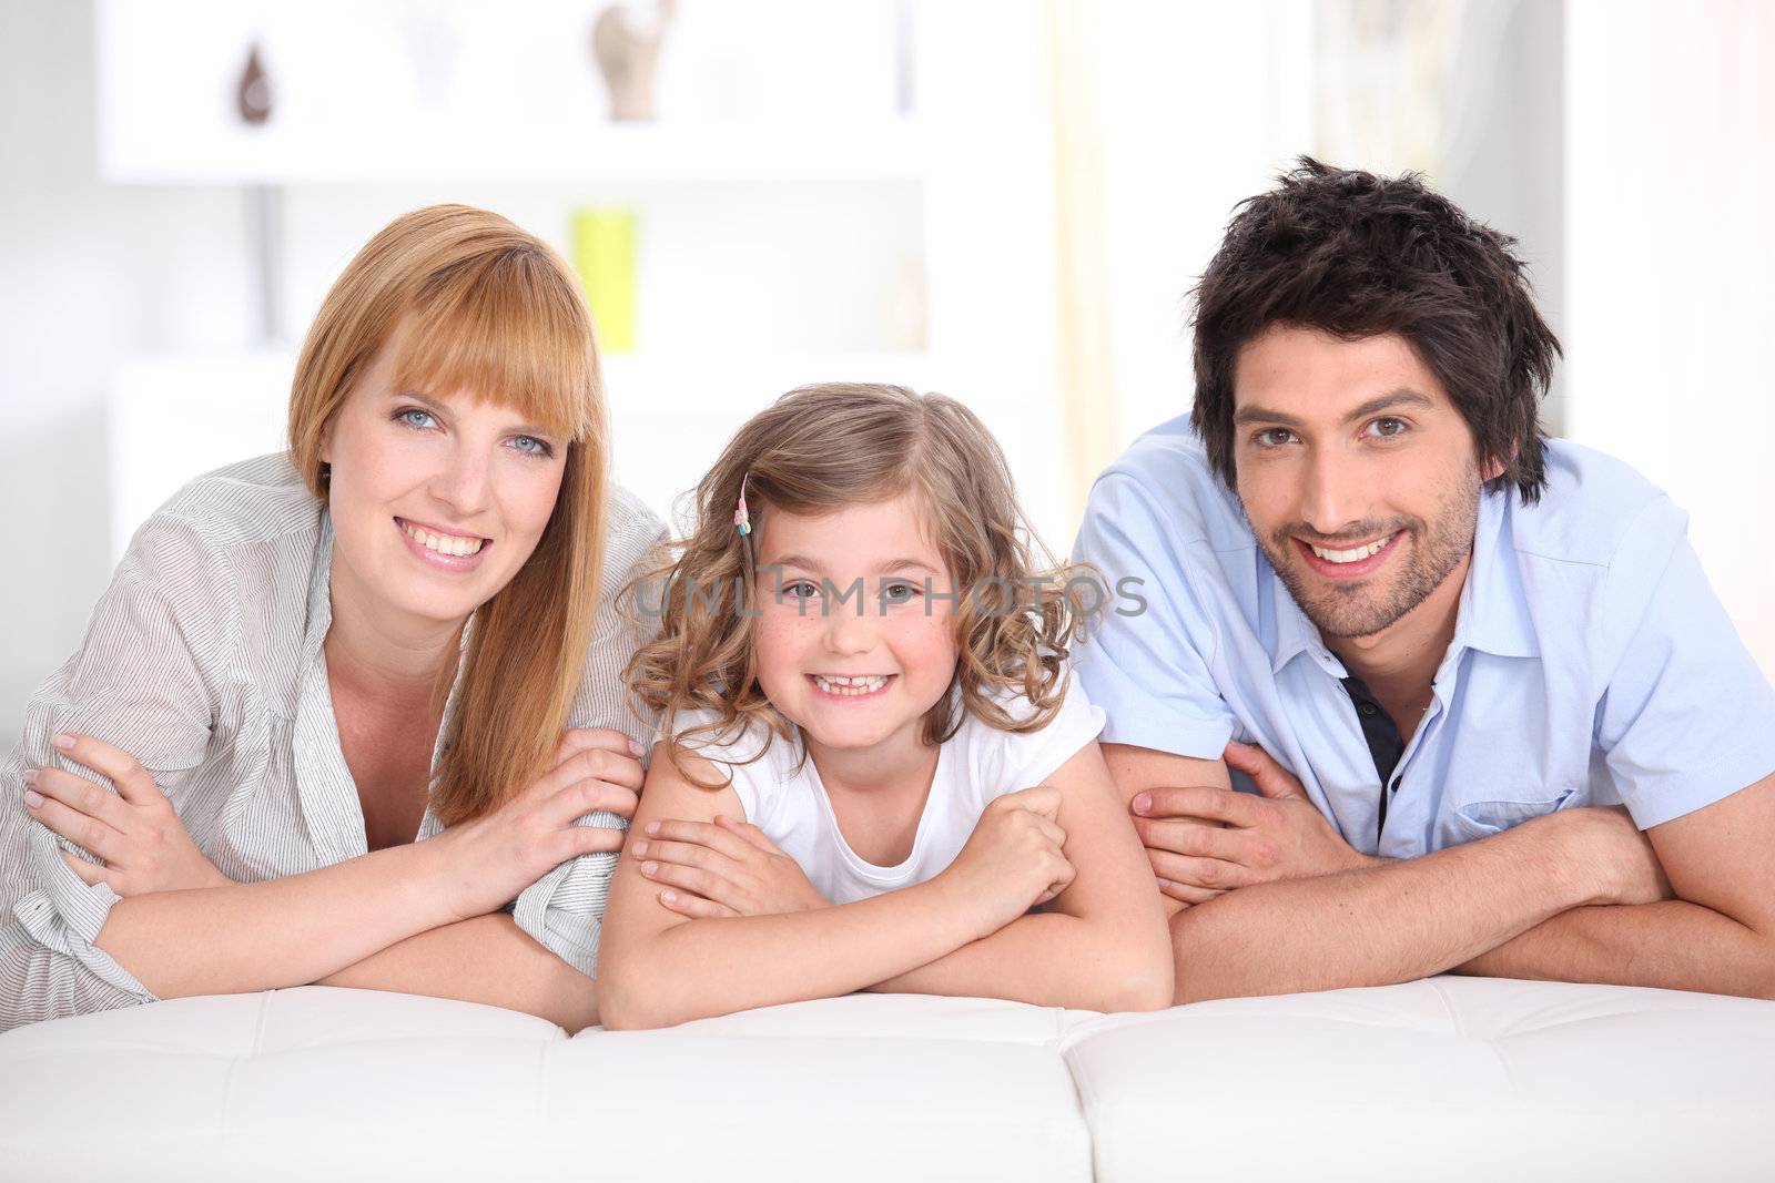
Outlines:
<svg viewBox="0 0 1775 1183"><path fill-rule="evenodd" d="M1152 429L1097 479L1072 553L1113 589L1076 663L1109 717L1102 741L1203 759L1257 743L1351 846L1395 858L1576 805L1626 803L1649 828L1775 772L1775 692L1688 516L1601 452L1555 440L1546 466L1535 505L1480 498L1454 640L1383 832L1344 665L1187 417Z"/></svg>

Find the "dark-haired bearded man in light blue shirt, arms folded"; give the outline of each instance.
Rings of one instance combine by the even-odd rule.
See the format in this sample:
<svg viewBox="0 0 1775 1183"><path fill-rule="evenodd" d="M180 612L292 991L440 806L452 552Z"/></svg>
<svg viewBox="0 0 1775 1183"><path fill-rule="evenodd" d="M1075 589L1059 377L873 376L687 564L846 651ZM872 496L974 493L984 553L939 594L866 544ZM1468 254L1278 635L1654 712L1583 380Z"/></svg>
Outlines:
<svg viewBox="0 0 1775 1183"><path fill-rule="evenodd" d="M1542 438L1558 342L1512 245L1301 161L1196 289L1193 413L1097 481L1074 557L1145 603L1077 670L1179 1002L1445 970L1775 997L1775 692L1684 514Z"/></svg>

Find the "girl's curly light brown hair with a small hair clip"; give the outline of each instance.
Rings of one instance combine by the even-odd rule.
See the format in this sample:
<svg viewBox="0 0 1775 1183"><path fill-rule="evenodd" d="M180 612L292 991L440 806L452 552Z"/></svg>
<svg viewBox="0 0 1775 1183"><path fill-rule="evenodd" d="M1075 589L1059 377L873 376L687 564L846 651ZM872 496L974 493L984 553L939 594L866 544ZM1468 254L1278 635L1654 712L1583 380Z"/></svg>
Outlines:
<svg viewBox="0 0 1775 1183"><path fill-rule="evenodd" d="M628 589L660 626L630 660L628 685L660 715L680 772L690 777L678 763L685 738L728 741L753 724L795 734L758 686L754 621L740 612L751 601L742 605L738 589L754 576L733 520L742 481L754 530L779 511L818 516L914 495L960 594L955 681L925 717L927 743L953 736L964 713L1001 731L1053 720L1092 569L1056 566L1040 546L1017 509L1005 452L966 406L903 387L825 383L785 394L740 427L696 486L694 532L664 543ZM1008 713L994 699L1006 690L1024 693L1033 711ZM714 722L680 731L678 715L696 709Z"/></svg>

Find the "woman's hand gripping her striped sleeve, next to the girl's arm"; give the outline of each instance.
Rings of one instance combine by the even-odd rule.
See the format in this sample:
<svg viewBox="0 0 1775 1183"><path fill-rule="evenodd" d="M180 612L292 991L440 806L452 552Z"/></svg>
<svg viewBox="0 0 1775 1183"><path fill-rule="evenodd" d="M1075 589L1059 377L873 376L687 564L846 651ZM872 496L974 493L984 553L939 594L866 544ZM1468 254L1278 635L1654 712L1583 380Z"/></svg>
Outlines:
<svg viewBox="0 0 1775 1183"><path fill-rule="evenodd" d="M623 830L580 827L604 809L634 818L641 803L639 745L619 731L570 731L559 763L493 812L454 825L424 846L444 855L438 890L458 921L504 908L570 858L614 853Z"/></svg>

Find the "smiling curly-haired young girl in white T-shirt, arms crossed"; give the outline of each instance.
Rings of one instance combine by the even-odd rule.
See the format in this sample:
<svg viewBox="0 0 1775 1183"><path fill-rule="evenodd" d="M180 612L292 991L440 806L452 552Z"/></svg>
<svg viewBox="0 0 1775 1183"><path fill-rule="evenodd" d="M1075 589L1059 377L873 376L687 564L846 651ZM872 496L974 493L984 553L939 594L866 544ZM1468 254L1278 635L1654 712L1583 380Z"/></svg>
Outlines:
<svg viewBox="0 0 1775 1183"><path fill-rule="evenodd" d="M604 921L604 1023L866 988L1168 1006L1152 869L1065 665L1086 575L1033 569L985 426L806 387L698 502L634 589L662 628L630 686L664 741Z"/></svg>

